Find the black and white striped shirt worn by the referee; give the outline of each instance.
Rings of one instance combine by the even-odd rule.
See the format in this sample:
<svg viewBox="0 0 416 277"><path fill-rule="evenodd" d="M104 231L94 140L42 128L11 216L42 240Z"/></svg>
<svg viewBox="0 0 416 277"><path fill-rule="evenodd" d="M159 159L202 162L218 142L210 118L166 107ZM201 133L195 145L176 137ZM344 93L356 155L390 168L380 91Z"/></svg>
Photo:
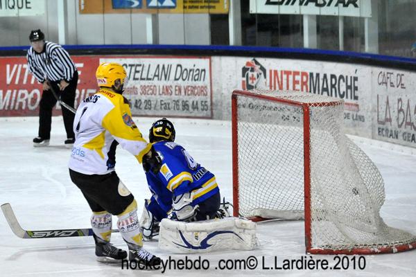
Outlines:
<svg viewBox="0 0 416 277"><path fill-rule="evenodd" d="M54 82L72 79L76 66L68 52L59 44L45 42L42 53L36 53L33 47L26 55L28 67L39 82L48 79Z"/></svg>

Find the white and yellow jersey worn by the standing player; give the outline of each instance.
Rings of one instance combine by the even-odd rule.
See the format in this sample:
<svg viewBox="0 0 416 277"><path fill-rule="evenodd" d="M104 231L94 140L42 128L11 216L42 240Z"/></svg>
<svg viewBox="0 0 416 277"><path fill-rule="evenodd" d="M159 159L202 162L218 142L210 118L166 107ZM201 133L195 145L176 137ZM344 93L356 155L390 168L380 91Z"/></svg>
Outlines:
<svg viewBox="0 0 416 277"><path fill-rule="evenodd" d="M73 132L75 143L69 168L86 175L114 171L117 144L139 163L152 146L133 122L128 100L110 89L101 89L80 103Z"/></svg>

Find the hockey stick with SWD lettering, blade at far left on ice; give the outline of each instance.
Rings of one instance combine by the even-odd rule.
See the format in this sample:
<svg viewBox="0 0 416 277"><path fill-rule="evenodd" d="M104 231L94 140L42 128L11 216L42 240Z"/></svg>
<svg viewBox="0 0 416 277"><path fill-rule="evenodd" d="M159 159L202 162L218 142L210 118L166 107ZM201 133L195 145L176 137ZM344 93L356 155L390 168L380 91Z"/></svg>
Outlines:
<svg viewBox="0 0 416 277"><path fill-rule="evenodd" d="M1 205L4 217L10 229L19 238L68 238L68 237L86 237L93 234L92 229L57 229L57 230L40 230L28 231L21 228L17 221L16 215L9 203ZM117 233L119 230L112 230L112 233Z"/></svg>

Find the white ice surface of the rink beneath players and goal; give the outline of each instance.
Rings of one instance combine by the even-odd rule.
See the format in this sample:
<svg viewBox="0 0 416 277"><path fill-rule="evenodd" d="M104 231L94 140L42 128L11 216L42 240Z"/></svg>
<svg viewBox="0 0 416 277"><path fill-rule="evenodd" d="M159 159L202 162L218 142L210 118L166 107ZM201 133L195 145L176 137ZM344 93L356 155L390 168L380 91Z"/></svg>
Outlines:
<svg viewBox="0 0 416 277"><path fill-rule="evenodd" d="M148 128L157 118L134 118L147 138ZM89 228L91 215L87 202L71 183L67 169L70 150L64 148L62 117L53 118L51 145L33 148L38 118L0 118L0 204L10 202L24 229ZM172 118L177 131L177 143L188 150L196 161L217 177L220 191L232 200L231 127L227 121ZM358 142L376 163L385 181L385 204L381 217L385 222L416 233L416 156ZM267 159L265 157L265 159ZM118 148L116 172L139 203L139 216L144 198L150 197L144 172L128 152ZM116 217L113 217L113 228ZM166 276L416 276L416 250L396 254L365 256L365 269L291 270L262 269L281 265L284 259L304 255L303 222L269 222L259 224L257 236L261 246L255 251L224 251L188 255L190 260L209 260L207 270L168 269ZM126 248L118 233L112 242ZM145 242L145 247L163 259L185 259L157 248L157 241ZM257 257L254 270L216 269L221 259ZM350 256L351 257L351 256ZM309 257L307 257L310 259ZM333 256L313 256L327 259ZM96 262L94 242L86 238L48 238L24 240L10 230L0 215L0 276L153 276L159 271L122 270L120 265Z"/></svg>

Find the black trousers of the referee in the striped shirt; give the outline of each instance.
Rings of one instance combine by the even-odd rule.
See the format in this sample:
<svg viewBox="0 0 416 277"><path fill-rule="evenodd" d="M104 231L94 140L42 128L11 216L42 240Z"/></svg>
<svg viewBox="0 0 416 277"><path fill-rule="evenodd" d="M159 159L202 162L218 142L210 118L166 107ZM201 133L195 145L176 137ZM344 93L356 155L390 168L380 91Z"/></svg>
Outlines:
<svg viewBox="0 0 416 277"><path fill-rule="evenodd" d="M64 91L60 91L58 87L59 82L51 82L49 84L53 87L57 96L65 102L67 105L73 107L75 102L76 85L78 83L78 72L73 73L73 78L69 82ZM52 109L55 107L58 99L53 96L52 91L49 89L43 91L42 98L40 98L39 105L39 136L42 139L51 139L51 123L52 123ZM62 107L62 116L64 118L65 131L67 132L67 139L75 139L73 134L73 118L75 114L69 109Z"/></svg>

